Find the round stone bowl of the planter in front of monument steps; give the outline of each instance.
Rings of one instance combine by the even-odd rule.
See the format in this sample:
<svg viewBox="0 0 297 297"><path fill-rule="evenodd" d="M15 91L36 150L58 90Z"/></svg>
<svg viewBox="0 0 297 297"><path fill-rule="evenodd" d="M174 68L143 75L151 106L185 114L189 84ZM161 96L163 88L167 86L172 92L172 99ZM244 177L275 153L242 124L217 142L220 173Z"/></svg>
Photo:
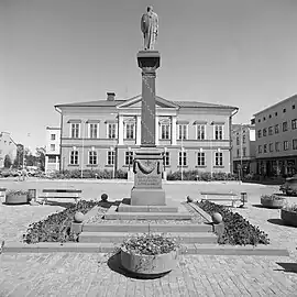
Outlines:
<svg viewBox="0 0 297 297"><path fill-rule="evenodd" d="M140 275L157 275L170 272L176 267L178 251L166 254L133 254L121 249L121 264L132 273Z"/></svg>

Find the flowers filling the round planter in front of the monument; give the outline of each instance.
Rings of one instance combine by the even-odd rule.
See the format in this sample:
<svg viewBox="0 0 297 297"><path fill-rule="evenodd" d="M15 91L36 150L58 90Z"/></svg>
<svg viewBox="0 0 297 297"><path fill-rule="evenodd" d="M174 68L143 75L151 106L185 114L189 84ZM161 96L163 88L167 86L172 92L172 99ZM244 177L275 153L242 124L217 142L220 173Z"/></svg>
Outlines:
<svg viewBox="0 0 297 297"><path fill-rule="evenodd" d="M179 243L165 234L143 233L128 238L121 248L134 254L157 255L177 250Z"/></svg>

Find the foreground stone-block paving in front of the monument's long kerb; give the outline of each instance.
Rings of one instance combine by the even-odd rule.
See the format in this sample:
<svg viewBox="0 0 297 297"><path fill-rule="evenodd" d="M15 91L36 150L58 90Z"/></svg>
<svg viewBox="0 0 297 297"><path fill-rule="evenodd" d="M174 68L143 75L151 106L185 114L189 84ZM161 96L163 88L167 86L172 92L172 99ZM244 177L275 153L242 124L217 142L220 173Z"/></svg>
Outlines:
<svg viewBox="0 0 297 297"><path fill-rule="evenodd" d="M117 256L108 258L2 254L0 296L296 296L297 274L288 257L180 256L175 271L145 280L127 277Z"/></svg>

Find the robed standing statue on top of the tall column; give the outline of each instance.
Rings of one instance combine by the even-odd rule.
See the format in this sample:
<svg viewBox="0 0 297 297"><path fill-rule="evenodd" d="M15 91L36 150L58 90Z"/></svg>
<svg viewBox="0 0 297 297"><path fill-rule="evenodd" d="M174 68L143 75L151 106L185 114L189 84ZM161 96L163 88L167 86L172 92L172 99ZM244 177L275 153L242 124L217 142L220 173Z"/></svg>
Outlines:
<svg viewBox="0 0 297 297"><path fill-rule="evenodd" d="M141 31L144 37L144 50L154 50L158 33L158 16L153 12L153 7L147 7L146 13L142 15Z"/></svg>

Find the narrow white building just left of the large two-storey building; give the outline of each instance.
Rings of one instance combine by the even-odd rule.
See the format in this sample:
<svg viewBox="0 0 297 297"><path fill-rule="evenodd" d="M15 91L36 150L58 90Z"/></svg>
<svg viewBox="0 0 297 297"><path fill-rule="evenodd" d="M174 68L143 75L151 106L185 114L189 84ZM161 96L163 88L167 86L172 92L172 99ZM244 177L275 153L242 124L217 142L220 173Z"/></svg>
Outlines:
<svg viewBox="0 0 297 297"><path fill-rule="evenodd" d="M59 170L61 128L46 127L45 173Z"/></svg>

